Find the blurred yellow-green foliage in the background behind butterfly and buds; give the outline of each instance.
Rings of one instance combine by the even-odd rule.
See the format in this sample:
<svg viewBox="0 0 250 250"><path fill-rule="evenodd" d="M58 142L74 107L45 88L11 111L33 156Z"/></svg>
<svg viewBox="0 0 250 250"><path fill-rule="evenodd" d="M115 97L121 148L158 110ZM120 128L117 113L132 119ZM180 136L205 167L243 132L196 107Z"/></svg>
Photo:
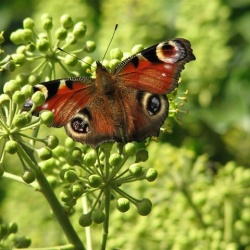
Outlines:
<svg viewBox="0 0 250 250"><path fill-rule="evenodd" d="M188 102L180 108L189 114L179 112L181 126L174 123L173 134L161 138L172 146L152 142L149 147L149 163L157 167L159 178L152 189L145 190L142 184L137 191L151 193L153 212L146 218L115 212L110 249L250 249L249 1L1 1L0 32L5 31L7 53L15 50L8 37L22 26L23 18L31 16L39 23L43 13L58 23L62 14L84 21L87 39L97 44L97 60L102 59L116 23L111 48L130 51L134 44L147 47L184 37L197 58L186 66L179 90L189 91ZM0 84L13 76L0 75ZM6 162L16 164L13 159ZM29 200L35 211L32 227L39 225L45 238L40 229L30 232L30 221L21 219L33 212L26 207L30 194L25 187L17 191L12 185L0 180L0 214L20 222L37 246L47 237L52 244L61 244L54 242L60 238L57 229L46 234L51 222L47 213L40 217L47 207L39 198L35 203Z"/></svg>

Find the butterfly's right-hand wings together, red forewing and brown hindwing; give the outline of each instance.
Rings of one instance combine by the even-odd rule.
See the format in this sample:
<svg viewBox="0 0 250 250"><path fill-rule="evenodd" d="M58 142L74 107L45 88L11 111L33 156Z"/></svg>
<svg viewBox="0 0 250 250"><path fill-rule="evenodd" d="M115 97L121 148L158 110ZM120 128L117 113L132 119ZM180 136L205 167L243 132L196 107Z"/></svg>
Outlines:
<svg viewBox="0 0 250 250"><path fill-rule="evenodd" d="M195 56L190 42L178 38L142 50L118 65L114 76L123 89L126 141L159 135L168 116L166 94L177 87L184 65L191 60Z"/></svg>

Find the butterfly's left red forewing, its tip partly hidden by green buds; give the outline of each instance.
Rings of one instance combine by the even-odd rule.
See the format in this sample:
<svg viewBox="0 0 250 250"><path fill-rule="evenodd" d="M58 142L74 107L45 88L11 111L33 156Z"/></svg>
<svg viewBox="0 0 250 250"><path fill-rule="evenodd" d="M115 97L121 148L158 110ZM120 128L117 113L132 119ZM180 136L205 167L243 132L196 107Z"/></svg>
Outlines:
<svg viewBox="0 0 250 250"><path fill-rule="evenodd" d="M44 88L45 87L45 88ZM42 91L46 102L36 112L50 110L54 113L52 126L61 127L92 99L95 91L94 80L89 78L68 78L54 80L34 87Z"/></svg>

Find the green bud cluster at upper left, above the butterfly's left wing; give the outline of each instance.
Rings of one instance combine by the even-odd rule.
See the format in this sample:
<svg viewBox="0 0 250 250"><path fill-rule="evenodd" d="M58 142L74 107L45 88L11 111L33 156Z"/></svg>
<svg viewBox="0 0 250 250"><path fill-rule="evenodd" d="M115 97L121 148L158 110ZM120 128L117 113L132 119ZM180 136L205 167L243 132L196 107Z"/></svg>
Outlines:
<svg viewBox="0 0 250 250"><path fill-rule="evenodd" d="M42 31L39 32L34 20L28 17L23 20L23 28L11 33L10 40L18 47L15 53L0 61L0 74L3 71L14 71L16 67L26 63L36 61L37 64L40 61L31 73L26 74L25 77L23 75L19 77L23 85L24 83L38 84L47 76L49 79L55 79L56 67L66 71L69 76L79 75L71 70L71 67L77 63L80 66L81 62L76 55L83 52L91 53L96 48L95 42L86 41L80 49L72 51L72 45L85 37L86 24L82 21L74 22L71 16L65 14L60 18L60 26L54 27L53 18L44 14L41 16L41 26ZM4 43L4 40L4 34L0 32L0 44ZM62 50L69 55L64 57ZM2 50L0 52L3 54Z"/></svg>

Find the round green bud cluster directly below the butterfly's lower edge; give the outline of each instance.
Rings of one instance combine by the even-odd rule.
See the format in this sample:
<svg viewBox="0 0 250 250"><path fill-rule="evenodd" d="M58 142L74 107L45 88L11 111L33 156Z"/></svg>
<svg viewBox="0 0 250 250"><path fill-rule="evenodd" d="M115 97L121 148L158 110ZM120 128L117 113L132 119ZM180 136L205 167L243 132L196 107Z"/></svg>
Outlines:
<svg viewBox="0 0 250 250"><path fill-rule="evenodd" d="M122 213L128 211L131 204L140 215L150 213L152 203L149 199L137 199L122 189L128 183L141 180L152 182L157 178L155 169L144 167L143 162L148 159L146 149L137 149L134 143L127 143L119 145L119 150L115 152L112 143L104 143L94 150L79 147L71 139L67 139L66 144L68 151L61 154L68 156L60 170L64 184L60 199L68 209L85 195L92 204L89 212L80 216L80 225L89 226L92 222L104 221L103 204L108 193L114 197L116 208ZM53 153L56 151L53 150Z"/></svg>

